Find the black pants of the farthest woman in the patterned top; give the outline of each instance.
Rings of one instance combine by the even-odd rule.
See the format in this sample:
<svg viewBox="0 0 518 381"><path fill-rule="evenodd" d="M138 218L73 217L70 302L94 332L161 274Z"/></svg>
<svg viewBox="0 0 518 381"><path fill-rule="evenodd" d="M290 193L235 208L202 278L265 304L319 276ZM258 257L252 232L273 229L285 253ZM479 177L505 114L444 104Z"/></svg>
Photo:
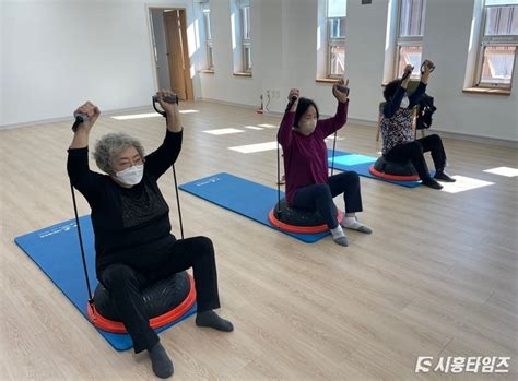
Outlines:
<svg viewBox="0 0 518 381"><path fill-rule="evenodd" d="M439 135L429 135L395 146L385 158L389 162L411 160L421 180L429 178L428 167L424 159L424 153L431 152L434 159L435 170L440 171L446 167L446 153Z"/></svg>

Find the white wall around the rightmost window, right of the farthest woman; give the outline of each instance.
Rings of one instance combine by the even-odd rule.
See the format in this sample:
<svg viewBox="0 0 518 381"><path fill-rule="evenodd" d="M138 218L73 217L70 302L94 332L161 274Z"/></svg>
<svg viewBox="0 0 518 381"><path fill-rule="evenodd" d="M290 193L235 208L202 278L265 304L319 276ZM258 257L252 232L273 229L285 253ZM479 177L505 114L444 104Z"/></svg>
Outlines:
<svg viewBox="0 0 518 381"><path fill-rule="evenodd" d="M462 93L473 3L473 0L427 2L423 56L437 64L428 86L438 108L434 123L445 131L517 141L518 64L515 64L510 96Z"/></svg>

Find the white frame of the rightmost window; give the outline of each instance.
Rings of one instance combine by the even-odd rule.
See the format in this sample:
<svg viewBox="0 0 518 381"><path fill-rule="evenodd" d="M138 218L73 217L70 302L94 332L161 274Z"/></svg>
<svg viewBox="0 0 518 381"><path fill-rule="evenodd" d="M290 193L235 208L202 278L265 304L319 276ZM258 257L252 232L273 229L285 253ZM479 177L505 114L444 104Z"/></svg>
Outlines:
<svg viewBox="0 0 518 381"><path fill-rule="evenodd" d="M513 5L485 5L483 9L482 14L482 27L481 27L481 35L480 35L480 46L479 46L479 53L476 58L476 70L475 70L475 78L474 78L474 85L476 87L482 88L505 88L510 90L513 86L513 74L516 71L516 63L517 59L516 56L518 53L518 35L485 35L485 26L487 23L487 9L488 8L503 8L503 7L513 7ZM517 7L517 5L514 5ZM516 13L515 13L516 12ZM514 10L514 17L518 17L518 8ZM513 62L513 73L509 81L509 84L506 83L497 83L497 82L482 82L482 69L484 66L484 52L485 48L487 47L496 47L496 46L514 46L515 49L515 59Z"/></svg>

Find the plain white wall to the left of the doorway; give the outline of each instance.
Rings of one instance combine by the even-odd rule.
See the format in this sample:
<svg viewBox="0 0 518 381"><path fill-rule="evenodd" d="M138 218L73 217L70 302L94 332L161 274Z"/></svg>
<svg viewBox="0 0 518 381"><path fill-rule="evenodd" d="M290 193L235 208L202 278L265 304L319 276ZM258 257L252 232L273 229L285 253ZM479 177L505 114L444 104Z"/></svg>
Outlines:
<svg viewBox="0 0 518 381"><path fill-rule="evenodd" d="M150 103L156 80L144 1L2 5L2 124L67 117L86 99L102 110ZM191 0L152 5L187 8L188 24L192 21Z"/></svg>

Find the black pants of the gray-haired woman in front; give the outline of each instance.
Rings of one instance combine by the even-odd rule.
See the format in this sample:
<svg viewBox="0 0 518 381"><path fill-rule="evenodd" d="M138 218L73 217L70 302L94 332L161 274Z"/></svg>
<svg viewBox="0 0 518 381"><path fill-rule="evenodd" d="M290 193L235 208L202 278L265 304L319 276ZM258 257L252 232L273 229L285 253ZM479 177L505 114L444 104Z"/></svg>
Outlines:
<svg viewBox="0 0 518 381"><path fill-rule="evenodd" d="M99 281L109 291L117 312L133 340L134 352L150 349L158 342L158 335L150 328L144 314L141 289L174 273L192 267L196 283L198 313L220 307L217 276L212 241L207 237L175 240L170 236L162 252L142 252L141 258L160 258L154 270L136 269L131 263L108 265L99 274ZM154 262L154 261L153 261Z"/></svg>

